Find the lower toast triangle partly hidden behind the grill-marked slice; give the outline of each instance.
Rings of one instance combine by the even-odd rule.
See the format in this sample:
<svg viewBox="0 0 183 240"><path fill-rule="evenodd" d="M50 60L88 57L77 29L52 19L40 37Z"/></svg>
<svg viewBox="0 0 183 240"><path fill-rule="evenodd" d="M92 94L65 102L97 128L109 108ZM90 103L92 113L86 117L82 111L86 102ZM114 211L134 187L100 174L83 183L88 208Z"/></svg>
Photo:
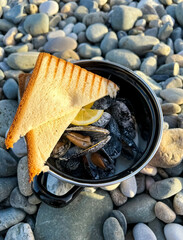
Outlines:
<svg viewBox="0 0 183 240"><path fill-rule="evenodd" d="M21 98L30 77L31 74L21 74L19 76L19 90ZM60 136L79 111L80 109L74 110L61 118L44 123L39 127L30 130L26 134L30 182L33 180L35 175L38 175L43 170L44 164L50 157L50 153L60 139Z"/></svg>

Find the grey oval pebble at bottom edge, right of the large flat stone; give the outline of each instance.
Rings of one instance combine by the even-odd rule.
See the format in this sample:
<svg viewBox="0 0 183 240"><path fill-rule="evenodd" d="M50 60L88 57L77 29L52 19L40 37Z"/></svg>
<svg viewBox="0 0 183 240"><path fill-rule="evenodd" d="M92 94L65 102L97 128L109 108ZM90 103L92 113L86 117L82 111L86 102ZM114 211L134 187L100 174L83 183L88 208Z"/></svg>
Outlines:
<svg viewBox="0 0 183 240"><path fill-rule="evenodd" d="M105 240L125 240L123 229L118 220L114 217L109 217L105 220L103 225L103 234Z"/></svg>

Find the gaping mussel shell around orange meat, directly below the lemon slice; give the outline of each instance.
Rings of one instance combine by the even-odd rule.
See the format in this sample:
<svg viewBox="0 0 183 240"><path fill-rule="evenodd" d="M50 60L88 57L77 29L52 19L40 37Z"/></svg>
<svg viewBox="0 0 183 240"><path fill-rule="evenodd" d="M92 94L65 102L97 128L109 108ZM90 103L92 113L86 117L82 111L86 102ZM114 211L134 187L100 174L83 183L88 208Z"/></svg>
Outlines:
<svg viewBox="0 0 183 240"><path fill-rule="evenodd" d="M105 144L111 139L111 136L109 135L110 132L107 129L95 126L70 127L66 129L65 134L69 132L77 132L84 136L89 136L91 138L91 146L87 147L86 149L82 149L78 146L71 147L67 153L60 158L60 160L69 160L71 158L77 158L86 155L87 153L96 152L104 147Z"/></svg>

